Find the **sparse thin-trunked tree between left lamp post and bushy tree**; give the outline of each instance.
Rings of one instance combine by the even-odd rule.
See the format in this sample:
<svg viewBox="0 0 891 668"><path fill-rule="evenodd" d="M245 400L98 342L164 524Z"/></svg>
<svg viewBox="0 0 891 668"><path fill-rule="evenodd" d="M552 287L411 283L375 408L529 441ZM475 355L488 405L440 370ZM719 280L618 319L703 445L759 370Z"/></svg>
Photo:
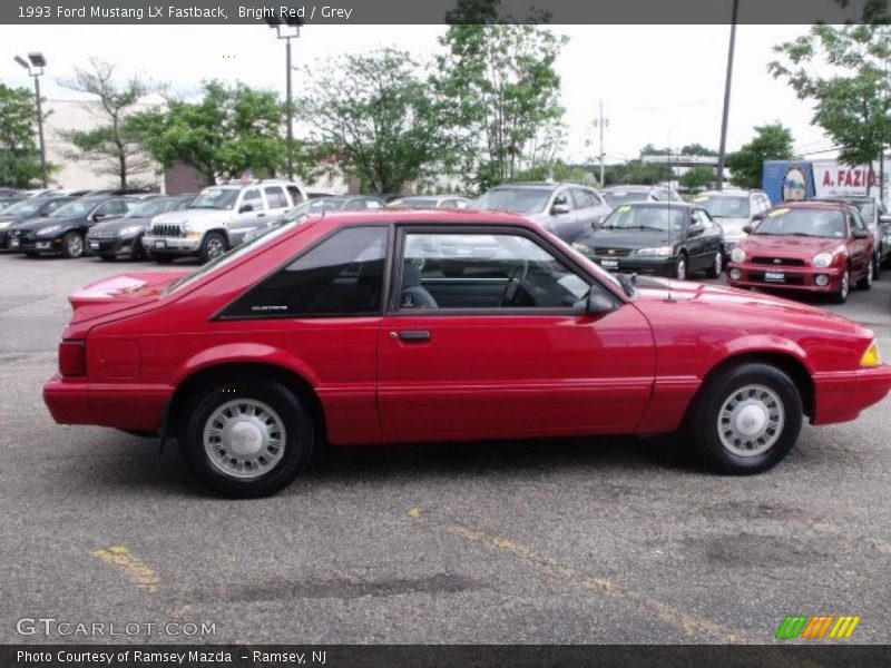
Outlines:
<svg viewBox="0 0 891 668"><path fill-rule="evenodd" d="M85 105L97 126L90 130L62 130L60 136L74 146L66 151L66 157L87 160L96 174L114 176L121 188L127 188L141 185L139 181L155 168L128 117L158 87L137 76L118 84L114 76L114 65L90 59L88 69L75 68L72 79L60 81L66 88L97 98Z"/></svg>

